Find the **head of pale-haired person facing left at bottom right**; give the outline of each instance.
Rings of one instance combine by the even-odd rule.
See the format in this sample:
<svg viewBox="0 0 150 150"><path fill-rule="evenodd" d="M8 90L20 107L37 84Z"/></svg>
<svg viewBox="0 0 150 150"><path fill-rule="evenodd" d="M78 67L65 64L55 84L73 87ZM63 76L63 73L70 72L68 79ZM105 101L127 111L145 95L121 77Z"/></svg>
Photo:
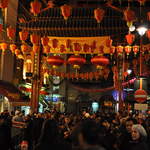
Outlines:
<svg viewBox="0 0 150 150"><path fill-rule="evenodd" d="M132 126L132 140L139 141L146 139L147 133L144 127L140 124L135 124Z"/></svg>

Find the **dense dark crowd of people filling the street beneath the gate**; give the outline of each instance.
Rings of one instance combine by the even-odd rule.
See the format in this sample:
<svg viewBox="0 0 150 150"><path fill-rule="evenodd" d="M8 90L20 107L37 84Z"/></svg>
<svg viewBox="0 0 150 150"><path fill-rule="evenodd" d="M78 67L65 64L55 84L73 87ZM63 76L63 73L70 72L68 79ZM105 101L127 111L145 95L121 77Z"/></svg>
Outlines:
<svg viewBox="0 0 150 150"><path fill-rule="evenodd" d="M1 150L149 150L148 114L0 114Z"/></svg>

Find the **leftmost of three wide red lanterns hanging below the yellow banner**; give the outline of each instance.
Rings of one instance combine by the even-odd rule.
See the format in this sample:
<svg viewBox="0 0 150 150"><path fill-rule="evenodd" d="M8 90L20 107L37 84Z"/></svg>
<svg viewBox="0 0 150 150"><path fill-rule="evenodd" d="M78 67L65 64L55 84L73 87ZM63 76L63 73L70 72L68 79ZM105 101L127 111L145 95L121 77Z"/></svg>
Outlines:
<svg viewBox="0 0 150 150"><path fill-rule="evenodd" d="M60 56L49 56L47 58L47 63L52 65L53 69L56 69L64 63L64 60Z"/></svg>

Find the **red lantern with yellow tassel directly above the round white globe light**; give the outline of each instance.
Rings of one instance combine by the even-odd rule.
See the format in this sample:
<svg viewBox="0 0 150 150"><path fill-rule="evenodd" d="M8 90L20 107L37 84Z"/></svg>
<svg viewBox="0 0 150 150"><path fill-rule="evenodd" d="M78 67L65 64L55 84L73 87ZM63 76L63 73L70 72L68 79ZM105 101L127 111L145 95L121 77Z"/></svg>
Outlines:
<svg viewBox="0 0 150 150"><path fill-rule="evenodd" d="M135 21L135 12L127 8L124 11L124 18L127 21L128 27L132 26L133 21Z"/></svg>

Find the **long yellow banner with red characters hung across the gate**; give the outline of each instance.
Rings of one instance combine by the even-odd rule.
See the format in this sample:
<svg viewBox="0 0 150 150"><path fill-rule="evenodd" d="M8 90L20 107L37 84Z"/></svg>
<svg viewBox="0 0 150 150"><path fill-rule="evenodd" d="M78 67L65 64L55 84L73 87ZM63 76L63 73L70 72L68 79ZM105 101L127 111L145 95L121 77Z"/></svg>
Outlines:
<svg viewBox="0 0 150 150"><path fill-rule="evenodd" d="M103 54L110 53L109 36L102 37L49 37L50 53Z"/></svg>

